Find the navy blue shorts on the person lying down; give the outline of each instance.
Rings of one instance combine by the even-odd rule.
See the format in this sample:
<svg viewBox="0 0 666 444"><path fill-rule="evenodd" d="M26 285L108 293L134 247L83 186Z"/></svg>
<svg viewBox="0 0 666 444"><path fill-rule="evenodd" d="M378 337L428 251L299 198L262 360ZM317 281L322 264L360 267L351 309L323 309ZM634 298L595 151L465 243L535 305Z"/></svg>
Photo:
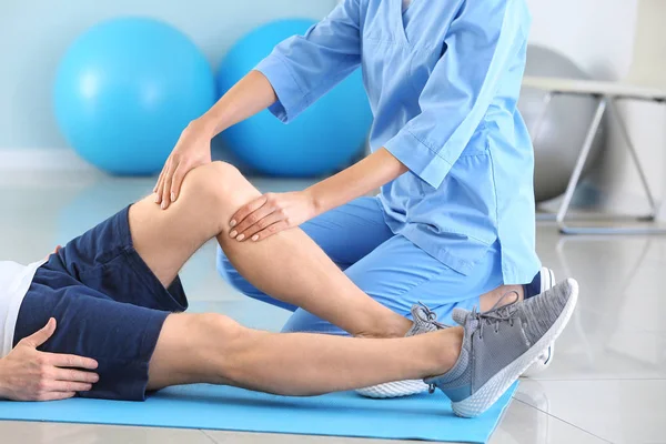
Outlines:
<svg viewBox="0 0 666 444"><path fill-rule="evenodd" d="M100 380L83 397L143 401L162 324L188 307L180 279L164 289L134 250L128 215L129 208L52 254L17 321L14 346L56 317L39 350L98 361Z"/></svg>

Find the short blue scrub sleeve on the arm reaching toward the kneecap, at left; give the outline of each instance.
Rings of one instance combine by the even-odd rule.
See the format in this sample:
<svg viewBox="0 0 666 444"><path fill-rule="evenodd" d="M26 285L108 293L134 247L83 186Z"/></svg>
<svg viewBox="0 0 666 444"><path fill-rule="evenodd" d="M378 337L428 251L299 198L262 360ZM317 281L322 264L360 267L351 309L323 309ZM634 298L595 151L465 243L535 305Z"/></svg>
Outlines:
<svg viewBox="0 0 666 444"><path fill-rule="evenodd" d="M345 0L324 20L280 43L255 68L278 95L270 111L289 123L361 64L361 6Z"/></svg>

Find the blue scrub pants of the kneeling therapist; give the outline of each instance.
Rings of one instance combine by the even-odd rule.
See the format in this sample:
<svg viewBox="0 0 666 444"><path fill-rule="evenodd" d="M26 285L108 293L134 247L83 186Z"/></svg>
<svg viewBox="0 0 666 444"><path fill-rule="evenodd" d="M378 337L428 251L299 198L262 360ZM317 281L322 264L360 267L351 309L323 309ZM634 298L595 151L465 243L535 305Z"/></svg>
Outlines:
<svg viewBox="0 0 666 444"><path fill-rule="evenodd" d="M393 234L376 198L357 199L304 223L301 229L361 290L407 317L411 317L412 305L422 302L437 313L441 322L451 324L453 309L472 310L478 306L480 295L503 284L496 245L488 249L470 275L463 275L402 235ZM293 311L283 332L346 334L331 323L258 290L235 271L221 250L218 271L245 295Z"/></svg>

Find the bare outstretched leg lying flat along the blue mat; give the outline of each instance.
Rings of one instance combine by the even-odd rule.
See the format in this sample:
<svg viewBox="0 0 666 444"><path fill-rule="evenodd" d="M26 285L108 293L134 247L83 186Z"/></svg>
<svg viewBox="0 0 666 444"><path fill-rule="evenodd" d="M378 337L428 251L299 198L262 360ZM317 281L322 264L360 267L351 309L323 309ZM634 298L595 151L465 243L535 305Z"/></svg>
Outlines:
<svg viewBox="0 0 666 444"><path fill-rule="evenodd" d="M309 396L446 373L461 327L402 339L275 334L220 314L172 314L150 362L149 390L210 383Z"/></svg>

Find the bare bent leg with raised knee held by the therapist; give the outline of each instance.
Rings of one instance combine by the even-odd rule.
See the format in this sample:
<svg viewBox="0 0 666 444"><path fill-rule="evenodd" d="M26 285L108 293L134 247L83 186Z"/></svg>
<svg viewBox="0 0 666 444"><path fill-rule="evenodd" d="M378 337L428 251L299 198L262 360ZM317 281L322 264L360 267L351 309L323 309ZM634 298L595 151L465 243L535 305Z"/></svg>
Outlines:
<svg viewBox="0 0 666 444"><path fill-rule="evenodd" d="M301 306L354 335L402 336L411 322L363 293L300 229L262 242L226 235L238 209L260 192L232 165L213 162L190 172L180 199L164 211L150 198L130 209L134 248L168 286L184 262L213 236L258 289Z"/></svg>

